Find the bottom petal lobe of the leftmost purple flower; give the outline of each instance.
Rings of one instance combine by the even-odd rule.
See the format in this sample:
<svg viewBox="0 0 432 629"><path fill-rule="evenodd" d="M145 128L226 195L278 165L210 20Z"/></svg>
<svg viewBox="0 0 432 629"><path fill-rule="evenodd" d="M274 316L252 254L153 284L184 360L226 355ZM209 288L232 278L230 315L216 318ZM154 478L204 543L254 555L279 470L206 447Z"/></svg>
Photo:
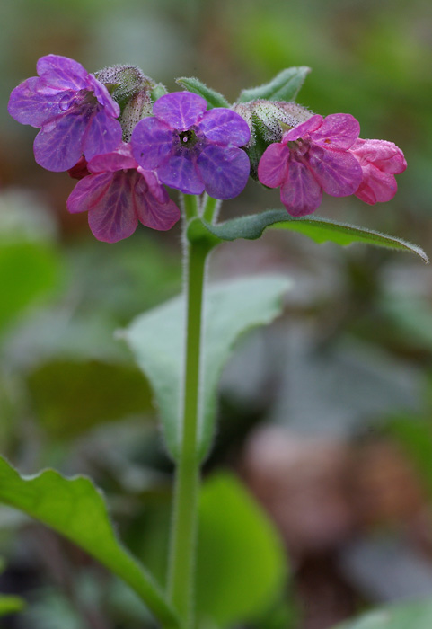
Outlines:
<svg viewBox="0 0 432 629"><path fill-rule="evenodd" d="M82 116L58 116L49 120L34 140L34 157L40 166L59 173L75 166L87 120Z"/></svg>

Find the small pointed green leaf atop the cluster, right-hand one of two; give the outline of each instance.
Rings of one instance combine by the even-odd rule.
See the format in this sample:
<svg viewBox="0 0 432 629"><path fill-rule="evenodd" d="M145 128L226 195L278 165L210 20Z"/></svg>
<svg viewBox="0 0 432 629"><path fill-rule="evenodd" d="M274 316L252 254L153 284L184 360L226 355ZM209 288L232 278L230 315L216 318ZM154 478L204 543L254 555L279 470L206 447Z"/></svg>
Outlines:
<svg viewBox="0 0 432 629"><path fill-rule="evenodd" d="M238 102L257 101L261 98L266 101L294 101L309 72L311 68L306 66L287 67L269 83L242 90Z"/></svg>

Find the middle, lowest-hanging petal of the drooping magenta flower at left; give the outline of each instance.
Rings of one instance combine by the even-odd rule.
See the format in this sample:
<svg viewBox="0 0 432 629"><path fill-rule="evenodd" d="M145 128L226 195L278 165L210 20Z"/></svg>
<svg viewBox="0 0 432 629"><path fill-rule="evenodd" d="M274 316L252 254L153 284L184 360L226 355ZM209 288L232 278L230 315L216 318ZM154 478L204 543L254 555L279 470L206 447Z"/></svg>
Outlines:
<svg viewBox="0 0 432 629"><path fill-rule="evenodd" d="M117 243L128 238L137 229L137 209L133 201L134 183L134 177L130 173L118 171L110 175L108 189L89 210L89 226L98 240Z"/></svg>

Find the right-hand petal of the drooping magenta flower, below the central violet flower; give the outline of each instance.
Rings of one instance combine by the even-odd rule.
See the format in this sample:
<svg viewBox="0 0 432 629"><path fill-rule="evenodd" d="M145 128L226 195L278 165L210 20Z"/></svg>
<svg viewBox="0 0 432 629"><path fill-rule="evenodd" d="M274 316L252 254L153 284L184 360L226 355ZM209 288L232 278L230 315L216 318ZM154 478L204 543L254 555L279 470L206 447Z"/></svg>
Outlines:
<svg viewBox="0 0 432 629"><path fill-rule="evenodd" d="M162 189L162 186L160 186ZM166 195L166 199L161 203L154 197L148 188L145 178L137 173L137 182L134 190L134 205L137 217L143 225L166 231L171 229L181 217L180 209Z"/></svg>

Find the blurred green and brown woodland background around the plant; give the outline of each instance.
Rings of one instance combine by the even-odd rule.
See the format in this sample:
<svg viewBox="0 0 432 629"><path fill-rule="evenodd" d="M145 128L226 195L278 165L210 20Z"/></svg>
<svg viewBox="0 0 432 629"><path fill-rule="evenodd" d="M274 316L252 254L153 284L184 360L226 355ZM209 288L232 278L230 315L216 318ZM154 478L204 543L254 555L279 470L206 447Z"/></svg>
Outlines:
<svg viewBox="0 0 432 629"><path fill-rule="evenodd" d="M34 163L35 129L8 116L9 93L48 53L89 71L134 64L170 90L176 76L198 76L231 102L310 66L301 104L352 113L362 137L392 140L408 161L390 203L327 198L319 214L430 255L430 3L4 0L0 23L0 451L23 472L91 474L127 545L163 574L172 465L149 387L114 332L181 290L180 228L94 240L85 216L66 213L67 173ZM278 192L250 182L222 216L272 207ZM408 255L271 233L221 246L209 274L275 270L294 280L286 312L225 371L206 474L242 477L291 568L278 598L227 626L327 629L432 594L432 279ZM7 509L0 554L0 589L28 600L4 627L57 629L59 616L65 629L143 627L143 610L88 558Z"/></svg>

